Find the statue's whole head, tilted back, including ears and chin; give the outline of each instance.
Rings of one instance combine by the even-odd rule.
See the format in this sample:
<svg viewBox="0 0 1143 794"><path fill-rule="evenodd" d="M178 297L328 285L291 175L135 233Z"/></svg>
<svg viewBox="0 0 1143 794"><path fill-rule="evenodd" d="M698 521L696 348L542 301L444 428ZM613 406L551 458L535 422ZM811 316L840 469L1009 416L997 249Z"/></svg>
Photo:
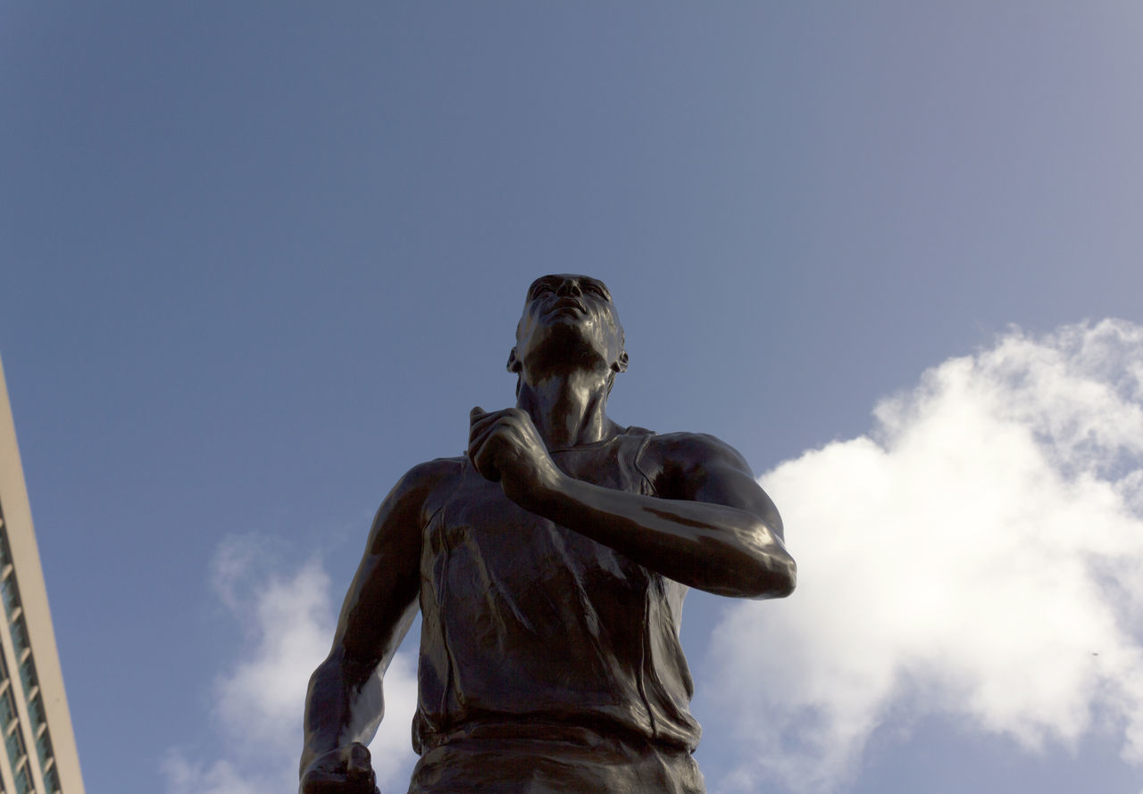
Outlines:
<svg viewBox="0 0 1143 794"><path fill-rule="evenodd" d="M528 287L507 369L520 374L526 367L567 366L606 367L610 391L615 375L628 368L623 326L599 279L542 275Z"/></svg>

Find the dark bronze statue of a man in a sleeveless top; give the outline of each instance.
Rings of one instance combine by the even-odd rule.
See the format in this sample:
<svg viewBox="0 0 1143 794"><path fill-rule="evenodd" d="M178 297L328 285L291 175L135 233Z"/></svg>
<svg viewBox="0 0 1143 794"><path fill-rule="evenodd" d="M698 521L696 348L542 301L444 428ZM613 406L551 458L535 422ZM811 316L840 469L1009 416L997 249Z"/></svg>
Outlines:
<svg viewBox="0 0 1143 794"><path fill-rule="evenodd" d="M473 408L466 457L410 470L377 511L306 697L303 794L374 794L381 676L423 617L410 794L703 792L688 587L782 597L796 566L745 460L605 412L626 368L601 281L528 289L515 408Z"/></svg>

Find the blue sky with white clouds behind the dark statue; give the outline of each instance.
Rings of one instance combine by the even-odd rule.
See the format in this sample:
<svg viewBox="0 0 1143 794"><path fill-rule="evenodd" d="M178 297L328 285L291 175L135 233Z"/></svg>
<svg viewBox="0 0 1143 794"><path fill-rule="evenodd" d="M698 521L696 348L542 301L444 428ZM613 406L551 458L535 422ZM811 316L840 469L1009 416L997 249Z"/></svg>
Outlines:
<svg viewBox="0 0 1143 794"><path fill-rule="evenodd" d="M89 791L294 778L373 511L569 271L626 327L612 416L737 447L801 563L688 602L712 793L1143 791L1141 41L1130 2L0 5L0 354Z"/></svg>

